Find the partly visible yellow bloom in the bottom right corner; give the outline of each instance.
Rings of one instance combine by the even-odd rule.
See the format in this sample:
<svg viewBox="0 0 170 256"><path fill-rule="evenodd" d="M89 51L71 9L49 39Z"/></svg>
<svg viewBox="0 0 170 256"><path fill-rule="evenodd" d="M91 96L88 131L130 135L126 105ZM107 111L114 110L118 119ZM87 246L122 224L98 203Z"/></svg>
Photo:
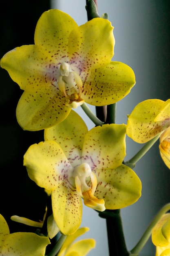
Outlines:
<svg viewBox="0 0 170 256"><path fill-rule="evenodd" d="M170 213L166 213L152 230L152 243L156 246L156 256L170 255Z"/></svg>

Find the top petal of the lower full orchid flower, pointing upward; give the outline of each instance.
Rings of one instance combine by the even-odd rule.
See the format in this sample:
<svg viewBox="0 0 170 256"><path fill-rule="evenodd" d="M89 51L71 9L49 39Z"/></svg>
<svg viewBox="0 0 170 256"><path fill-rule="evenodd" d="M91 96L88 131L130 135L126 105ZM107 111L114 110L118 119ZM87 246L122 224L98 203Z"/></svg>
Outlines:
<svg viewBox="0 0 170 256"><path fill-rule="evenodd" d="M68 117L60 124L44 130L44 138L56 141L74 167L81 164L83 141L87 132L83 119L71 110Z"/></svg>

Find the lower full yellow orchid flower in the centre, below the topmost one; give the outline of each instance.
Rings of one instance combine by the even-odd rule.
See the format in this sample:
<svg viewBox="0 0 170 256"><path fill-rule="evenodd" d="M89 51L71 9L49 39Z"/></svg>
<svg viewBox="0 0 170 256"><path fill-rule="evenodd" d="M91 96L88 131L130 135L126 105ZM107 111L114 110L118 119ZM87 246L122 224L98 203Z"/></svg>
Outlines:
<svg viewBox="0 0 170 256"><path fill-rule="evenodd" d="M88 131L71 110L60 124L45 129L45 141L24 155L31 180L51 191L53 217L62 234L73 234L82 220L82 200L98 211L136 202L141 182L122 164L126 125L106 124Z"/></svg>

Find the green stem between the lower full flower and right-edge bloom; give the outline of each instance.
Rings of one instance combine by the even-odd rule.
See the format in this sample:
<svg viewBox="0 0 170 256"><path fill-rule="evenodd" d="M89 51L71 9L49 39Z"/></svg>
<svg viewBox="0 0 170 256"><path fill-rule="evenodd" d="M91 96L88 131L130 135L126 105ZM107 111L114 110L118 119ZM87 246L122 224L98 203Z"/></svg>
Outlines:
<svg viewBox="0 0 170 256"><path fill-rule="evenodd" d="M130 164L136 164L145 154L146 152L155 144L155 142L159 139L160 134L148 141L143 148L141 148L134 157L132 157L129 161L125 162L124 164L130 165Z"/></svg>

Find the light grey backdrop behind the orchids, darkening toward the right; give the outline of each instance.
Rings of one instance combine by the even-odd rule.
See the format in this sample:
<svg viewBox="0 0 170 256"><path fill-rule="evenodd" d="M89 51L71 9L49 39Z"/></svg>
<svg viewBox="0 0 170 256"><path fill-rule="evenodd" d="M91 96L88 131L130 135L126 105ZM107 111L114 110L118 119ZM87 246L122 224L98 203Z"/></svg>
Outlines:
<svg viewBox="0 0 170 256"><path fill-rule="evenodd" d="M71 15L78 25L87 21L85 0L53 0L52 8ZM127 121L127 114L145 99L170 98L169 62L169 4L158 0L98 0L99 15L108 13L115 36L114 61L128 64L135 72L136 85L131 93L117 103L117 124ZM95 108L91 108L95 111ZM77 112L82 115L79 107ZM83 116L88 128L93 124ZM127 138L127 157L132 157L141 145ZM149 150L134 169L142 184L142 197L137 203L121 210L125 239L128 249L132 249L147 225L160 207L170 201L170 170L163 164L159 155L158 142ZM90 231L86 237L95 238L96 248L89 256L108 256L107 231L105 220L84 207L82 226ZM155 255L155 247L148 241L140 256Z"/></svg>

